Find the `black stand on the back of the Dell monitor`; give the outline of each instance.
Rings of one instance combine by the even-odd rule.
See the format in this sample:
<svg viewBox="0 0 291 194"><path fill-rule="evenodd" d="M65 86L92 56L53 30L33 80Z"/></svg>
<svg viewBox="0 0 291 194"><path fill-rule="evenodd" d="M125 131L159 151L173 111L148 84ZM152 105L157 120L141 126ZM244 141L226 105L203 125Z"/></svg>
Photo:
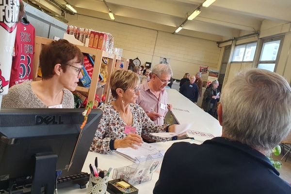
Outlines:
<svg viewBox="0 0 291 194"><path fill-rule="evenodd" d="M57 155L40 153L35 155L35 170L31 194L53 194L56 180Z"/></svg>

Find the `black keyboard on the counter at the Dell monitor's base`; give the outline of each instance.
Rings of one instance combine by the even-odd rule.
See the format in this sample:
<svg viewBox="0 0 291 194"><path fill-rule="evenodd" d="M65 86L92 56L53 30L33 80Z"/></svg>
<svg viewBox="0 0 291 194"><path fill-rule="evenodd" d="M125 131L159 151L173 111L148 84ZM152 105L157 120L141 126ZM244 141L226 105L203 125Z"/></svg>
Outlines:
<svg viewBox="0 0 291 194"><path fill-rule="evenodd" d="M58 188L70 187L76 184L80 185L80 189L86 188L90 174L81 172L80 174L58 178ZM30 194L32 184L17 185L12 188L12 194ZM0 194L9 194L9 189L0 190Z"/></svg>

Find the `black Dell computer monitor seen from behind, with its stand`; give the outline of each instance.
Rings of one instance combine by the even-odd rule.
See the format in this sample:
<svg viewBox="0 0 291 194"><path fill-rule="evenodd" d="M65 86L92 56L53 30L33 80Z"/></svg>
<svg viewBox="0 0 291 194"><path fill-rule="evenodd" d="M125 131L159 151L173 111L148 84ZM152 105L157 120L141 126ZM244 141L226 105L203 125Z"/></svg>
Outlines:
<svg viewBox="0 0 291 194"><path fill-rule="evenodd" d="M41 193L40 187L51 193L56 171L65 175L80 173L102 115L100 109L93 109L88 115L68 171L84 120L83 111L1 109L0 189L7 189L1 187L12 185L17 179L32 177L32 193ZM49 184L51 181L53 185Z"/></svg>

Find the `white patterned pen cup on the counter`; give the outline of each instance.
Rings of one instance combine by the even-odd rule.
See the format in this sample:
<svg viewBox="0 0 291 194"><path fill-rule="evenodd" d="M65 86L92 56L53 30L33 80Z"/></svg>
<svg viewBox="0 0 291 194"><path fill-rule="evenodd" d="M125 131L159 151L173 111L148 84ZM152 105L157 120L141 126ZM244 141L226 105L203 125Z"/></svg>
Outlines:
<svg viewBox="0 0 291 194"><path fill-rule="evenodd" d="M87 194L105 194L109 177L94 177L90 174Z"/></svg>

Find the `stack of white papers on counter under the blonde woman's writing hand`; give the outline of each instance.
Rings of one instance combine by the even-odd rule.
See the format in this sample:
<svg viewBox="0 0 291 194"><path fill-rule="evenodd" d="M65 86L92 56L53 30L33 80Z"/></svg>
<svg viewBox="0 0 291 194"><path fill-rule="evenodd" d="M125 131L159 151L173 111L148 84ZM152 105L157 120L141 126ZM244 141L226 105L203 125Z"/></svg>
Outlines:
<svg viewBox="0 0 291 194"><path fill-rule="evenodd" d="M143 143L142 146L133 146L138 147L138 149L132 149L131 147L118 148L116 149L116 152L127 159L134 161L136 157L147 156L148 154L159 151L157 147L147 144L146 142Z"/></svg>

